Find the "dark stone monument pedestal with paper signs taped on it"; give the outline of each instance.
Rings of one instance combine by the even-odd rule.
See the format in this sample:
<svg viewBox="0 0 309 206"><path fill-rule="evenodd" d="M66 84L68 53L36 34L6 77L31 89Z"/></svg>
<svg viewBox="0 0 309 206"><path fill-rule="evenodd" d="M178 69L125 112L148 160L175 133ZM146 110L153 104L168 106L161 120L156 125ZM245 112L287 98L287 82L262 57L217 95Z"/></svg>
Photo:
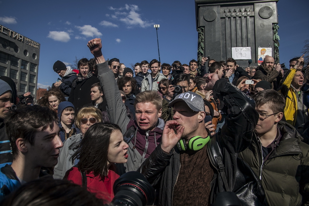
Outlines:
<svg viewBox="0 0 309 206"><path fill-rule="evenodd" d="M204 28L204 56L216 61L232 57L232 47L251 47L251 66L258 48L272 47L273 24L278 23L278 0L195 0L196 26ZM236 60L248 67L248 60Z"/></svg>

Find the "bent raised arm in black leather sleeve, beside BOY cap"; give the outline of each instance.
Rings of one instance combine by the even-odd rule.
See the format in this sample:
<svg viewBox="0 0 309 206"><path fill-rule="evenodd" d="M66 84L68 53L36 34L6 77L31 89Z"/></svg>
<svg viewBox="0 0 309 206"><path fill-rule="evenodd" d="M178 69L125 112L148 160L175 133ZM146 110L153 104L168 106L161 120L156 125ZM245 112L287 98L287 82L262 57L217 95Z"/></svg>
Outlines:
<svg viewBox="0 0 309 206"><path fill-rule="evenodd" d="M224 100L230 111L218 134L218 141L230 153L239 153L250 144L259 115L253 100L226 79L218 79L214 75L216 74L209 75L207 86L218 94L221 101Z"/></svg>

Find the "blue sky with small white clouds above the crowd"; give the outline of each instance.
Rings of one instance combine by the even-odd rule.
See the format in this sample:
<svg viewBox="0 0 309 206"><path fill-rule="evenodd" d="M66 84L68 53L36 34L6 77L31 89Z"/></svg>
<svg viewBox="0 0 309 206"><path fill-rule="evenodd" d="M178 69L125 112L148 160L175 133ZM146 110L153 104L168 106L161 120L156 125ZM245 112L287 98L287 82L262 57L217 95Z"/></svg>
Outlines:
<svg viewBox="0 0 309 206"><path fill-rule="evenodd" d="M280 0L280 62L301 55L309 39L307 0ZM73 63L92 58L87 42L100 37L105 58L119 58L127 67L142 60L182 64L197 58L194 0L156 1L9 1L2 0L0 24L41 44L38 83L51 85L57 60ZM291 9L293 8L293 9Z"/></svg>

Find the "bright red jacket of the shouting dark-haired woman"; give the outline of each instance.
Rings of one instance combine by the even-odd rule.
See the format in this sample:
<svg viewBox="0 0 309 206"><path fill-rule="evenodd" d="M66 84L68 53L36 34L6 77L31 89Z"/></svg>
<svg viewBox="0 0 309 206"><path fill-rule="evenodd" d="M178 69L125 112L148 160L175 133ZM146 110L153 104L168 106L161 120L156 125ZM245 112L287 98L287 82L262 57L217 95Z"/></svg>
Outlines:
<svg viewBox="0 0 309 206"><path fill-rule="evenodd" d="M108 175L101 180L99 176L94 176L93 172L86 174L87 190L94 193L97 198L111 202L114 198L113 185L119 175L112 170L108 170ZM64 179L71 180L73 183L83 185L82 174L77 167L72 167L66 172Z"/></svg>

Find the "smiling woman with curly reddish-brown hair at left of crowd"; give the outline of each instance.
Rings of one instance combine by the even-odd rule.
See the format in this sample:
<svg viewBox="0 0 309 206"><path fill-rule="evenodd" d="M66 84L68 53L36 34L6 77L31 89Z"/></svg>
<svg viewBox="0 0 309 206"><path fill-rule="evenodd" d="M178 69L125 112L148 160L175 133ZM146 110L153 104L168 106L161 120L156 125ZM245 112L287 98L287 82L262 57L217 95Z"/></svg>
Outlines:
<svg viewBox="0 0 309 206"><path fill-rule="evenodd" d="M36 104L43 107L49 107L57 114L58 106L62 101L66 101L66 99L61 90L57 87L52 87L44 93L43 97L36 101Z"/></svg>

